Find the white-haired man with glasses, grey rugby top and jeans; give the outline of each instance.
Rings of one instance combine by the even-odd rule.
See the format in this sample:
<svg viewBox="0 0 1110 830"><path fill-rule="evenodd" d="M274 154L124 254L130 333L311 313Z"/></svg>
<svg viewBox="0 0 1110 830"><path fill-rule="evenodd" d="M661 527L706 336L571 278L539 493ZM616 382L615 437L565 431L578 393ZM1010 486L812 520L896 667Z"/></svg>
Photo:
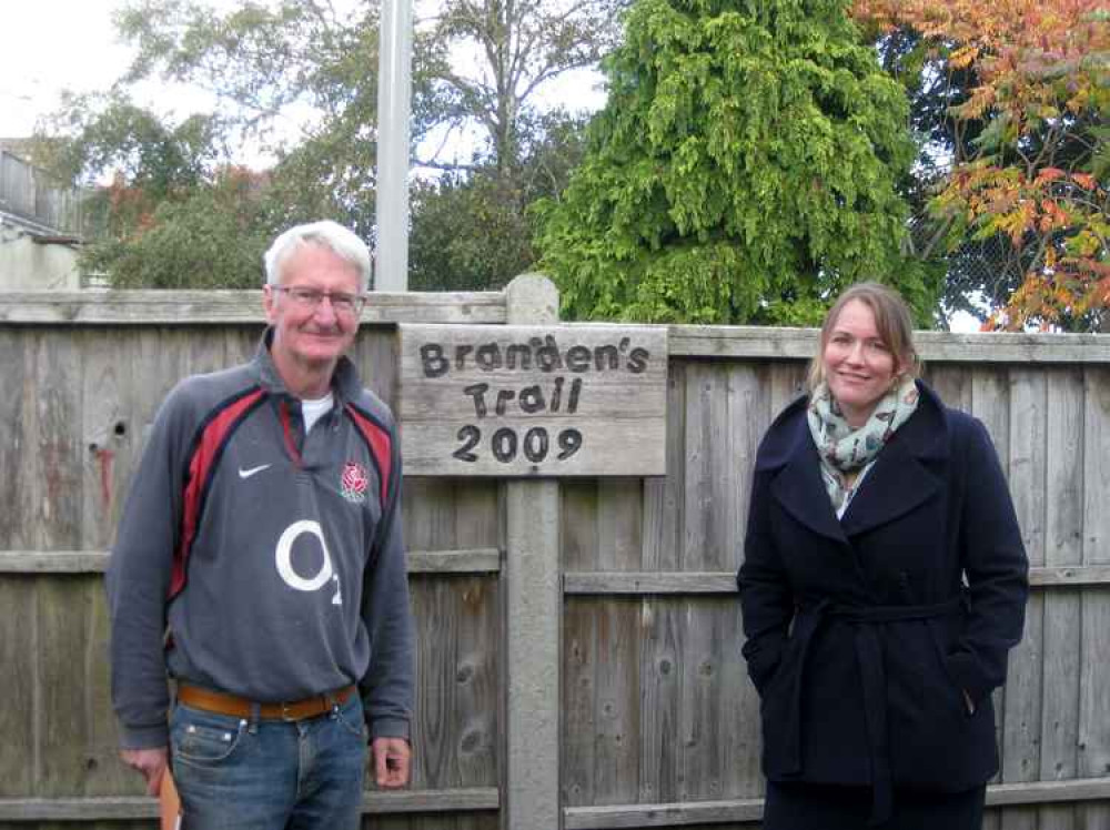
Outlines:
<svg viewBox="0 0 1110 830"><path fill-rule="evenodd" d="M108 570L122 757L152 794L172 762L190 830L359 827L367 737L408 780L396 426L344 356L370 252L317 222L265 271L258 353L170 393Z"/></svg>

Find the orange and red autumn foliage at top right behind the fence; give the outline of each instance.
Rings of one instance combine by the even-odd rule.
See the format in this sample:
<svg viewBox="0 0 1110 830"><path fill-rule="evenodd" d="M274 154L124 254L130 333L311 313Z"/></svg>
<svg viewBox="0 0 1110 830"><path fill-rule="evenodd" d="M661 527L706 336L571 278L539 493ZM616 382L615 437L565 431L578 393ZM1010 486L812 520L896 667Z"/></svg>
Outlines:
<svg viewBox="0 0 1110 830"><path fill-rule="evenodd" d="M1023 284L988 327L1051 330L1110 310L1106 0L856 0L854 16L912 29L947 69L973 71L951 114L987 128L931 208L953 241L1005 235L1028 254Z"/></svg>

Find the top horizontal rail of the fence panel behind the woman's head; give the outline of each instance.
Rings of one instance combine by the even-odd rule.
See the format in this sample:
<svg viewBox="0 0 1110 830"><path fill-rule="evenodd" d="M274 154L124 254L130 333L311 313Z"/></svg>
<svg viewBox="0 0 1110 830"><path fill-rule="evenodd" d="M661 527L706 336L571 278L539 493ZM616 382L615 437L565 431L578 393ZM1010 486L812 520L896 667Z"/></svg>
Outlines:
<svg viewBox="0 0 1110 830"><path fill-rule="evenodd" d="M817 352L816 328L673 325L672 355L804 360ZM953 334L915 332L921 357L944 363L1110 363L1110 344L1098 334Z"/></svg>

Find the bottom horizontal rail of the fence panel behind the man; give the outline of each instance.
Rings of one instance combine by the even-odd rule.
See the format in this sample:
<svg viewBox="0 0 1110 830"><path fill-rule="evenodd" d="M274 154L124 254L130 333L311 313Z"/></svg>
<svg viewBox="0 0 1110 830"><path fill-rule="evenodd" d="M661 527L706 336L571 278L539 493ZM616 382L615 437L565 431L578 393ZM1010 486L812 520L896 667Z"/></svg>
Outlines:
<svg viewBox="0 0 1110 830"><path fill-rule="evenodd" d="M500 804L494 787L448 790L397 790L366 792L363 813L470 812L496 810ZM151 819L158 816L158 801L135 796L94 798L2 798L2 821L94 821Z"/></svg>

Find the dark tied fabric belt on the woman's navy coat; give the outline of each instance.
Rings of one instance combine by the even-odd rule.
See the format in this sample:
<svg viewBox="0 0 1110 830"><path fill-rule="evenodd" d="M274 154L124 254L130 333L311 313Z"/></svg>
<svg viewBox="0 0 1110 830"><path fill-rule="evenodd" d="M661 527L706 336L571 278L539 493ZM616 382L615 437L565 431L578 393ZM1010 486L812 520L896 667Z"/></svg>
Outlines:
<svg viewBox="0 0 1110 830"><path fill-rule="evenodd" d="M881 824L894 810L894 776L890 765L889 730L887 728L887 670L878 627L886 622L934 619L963 609L962 595L931 605L840 605L826 598L816 605L799 606L794 624L798 642L798 668L794 672L790 695L790 722L786 730L787 772L801 771L801 689L805 687L806 657L817 630L830 619L851 625L856 659L864 690L864 713L867 723L867 746L871 762L871 817L869 823Z"/></svg>

